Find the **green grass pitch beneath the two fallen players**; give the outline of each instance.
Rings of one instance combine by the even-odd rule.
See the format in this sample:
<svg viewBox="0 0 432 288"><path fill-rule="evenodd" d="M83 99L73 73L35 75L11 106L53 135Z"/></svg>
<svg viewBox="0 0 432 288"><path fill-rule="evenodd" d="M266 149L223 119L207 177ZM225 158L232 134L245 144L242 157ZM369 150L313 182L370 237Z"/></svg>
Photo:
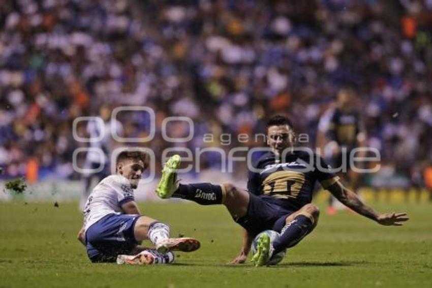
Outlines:
<svg viewBox="0 0 432 288"><path fill-rule="evenodd" d="M240 227L222 206L140 204L170 223L172 236L202 242L197 252L177 253L174 265L140 267L91 264L75 239L77 204L0 203L0 287L430 287L431 205L373 206L411 219L384 227L347 212L322 213L281 265L255 268L227 264L240 248Z"/></svg>

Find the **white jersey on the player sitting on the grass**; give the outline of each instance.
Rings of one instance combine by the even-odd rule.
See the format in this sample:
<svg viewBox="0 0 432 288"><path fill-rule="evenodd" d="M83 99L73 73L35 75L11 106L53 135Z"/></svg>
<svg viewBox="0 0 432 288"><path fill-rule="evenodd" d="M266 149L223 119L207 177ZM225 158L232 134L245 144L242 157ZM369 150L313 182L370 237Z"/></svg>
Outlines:
<svg viewBox="0 0 432 288"><path fill-rule="evenodd" d="M134 190L128 179L111 175L91 191L84 206L84 229L108 214L120 214L121 205L134 200Z"/></svg>

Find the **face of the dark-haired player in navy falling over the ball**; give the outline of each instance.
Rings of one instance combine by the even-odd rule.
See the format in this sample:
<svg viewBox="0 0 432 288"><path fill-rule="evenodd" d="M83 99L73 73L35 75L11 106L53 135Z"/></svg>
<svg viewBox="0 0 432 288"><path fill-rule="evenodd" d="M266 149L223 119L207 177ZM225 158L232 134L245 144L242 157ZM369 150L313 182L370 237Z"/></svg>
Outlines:
<svg viewBox="0 0 432 288"><path fill-rule="evenodd" d="M276 155L282 155L287 148L292 148L295 135L288 125L270 126L267 131L267 145Z"/></svg>

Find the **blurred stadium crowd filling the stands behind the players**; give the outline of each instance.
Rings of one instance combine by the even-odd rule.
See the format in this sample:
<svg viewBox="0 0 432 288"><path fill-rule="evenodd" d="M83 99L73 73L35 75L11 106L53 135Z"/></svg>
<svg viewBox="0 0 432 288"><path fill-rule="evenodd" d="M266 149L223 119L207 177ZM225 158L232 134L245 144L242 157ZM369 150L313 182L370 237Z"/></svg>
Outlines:
<svg viewBox="0 0 432 288"><path fill-rule="evenodd" d="M138 145L157 156L172 146L262 146L236 135L262 133L276 112L289 113L314 147L320 116L349 87L382 171L420 184L432 160L431 31L430 0L3 0L2 177L79 178L72 154L88 143L73 139L74 119L109 122L124 105L155 111L156 136ZM162 139L170 116L193 119L191 141ZM148 133L143 113L118 120L124 137ZM89 133L84 122L77 130ZM168 134L188 133L179 123Z"/></svg>

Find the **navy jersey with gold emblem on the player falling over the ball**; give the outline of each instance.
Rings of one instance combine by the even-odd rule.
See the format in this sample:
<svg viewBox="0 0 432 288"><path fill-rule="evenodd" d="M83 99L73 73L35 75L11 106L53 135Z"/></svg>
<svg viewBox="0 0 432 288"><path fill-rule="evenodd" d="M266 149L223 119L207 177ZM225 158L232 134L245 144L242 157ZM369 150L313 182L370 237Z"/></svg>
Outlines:
<svg viewBox="0 0 432 288"><path fill-rule="evenodd" d="M326 189L338 180L321 157L303 151L288 154L280 162L268 152L254 168L258 171L249 171L249 192L294 211L311 203L316 181Z"/></svg>

